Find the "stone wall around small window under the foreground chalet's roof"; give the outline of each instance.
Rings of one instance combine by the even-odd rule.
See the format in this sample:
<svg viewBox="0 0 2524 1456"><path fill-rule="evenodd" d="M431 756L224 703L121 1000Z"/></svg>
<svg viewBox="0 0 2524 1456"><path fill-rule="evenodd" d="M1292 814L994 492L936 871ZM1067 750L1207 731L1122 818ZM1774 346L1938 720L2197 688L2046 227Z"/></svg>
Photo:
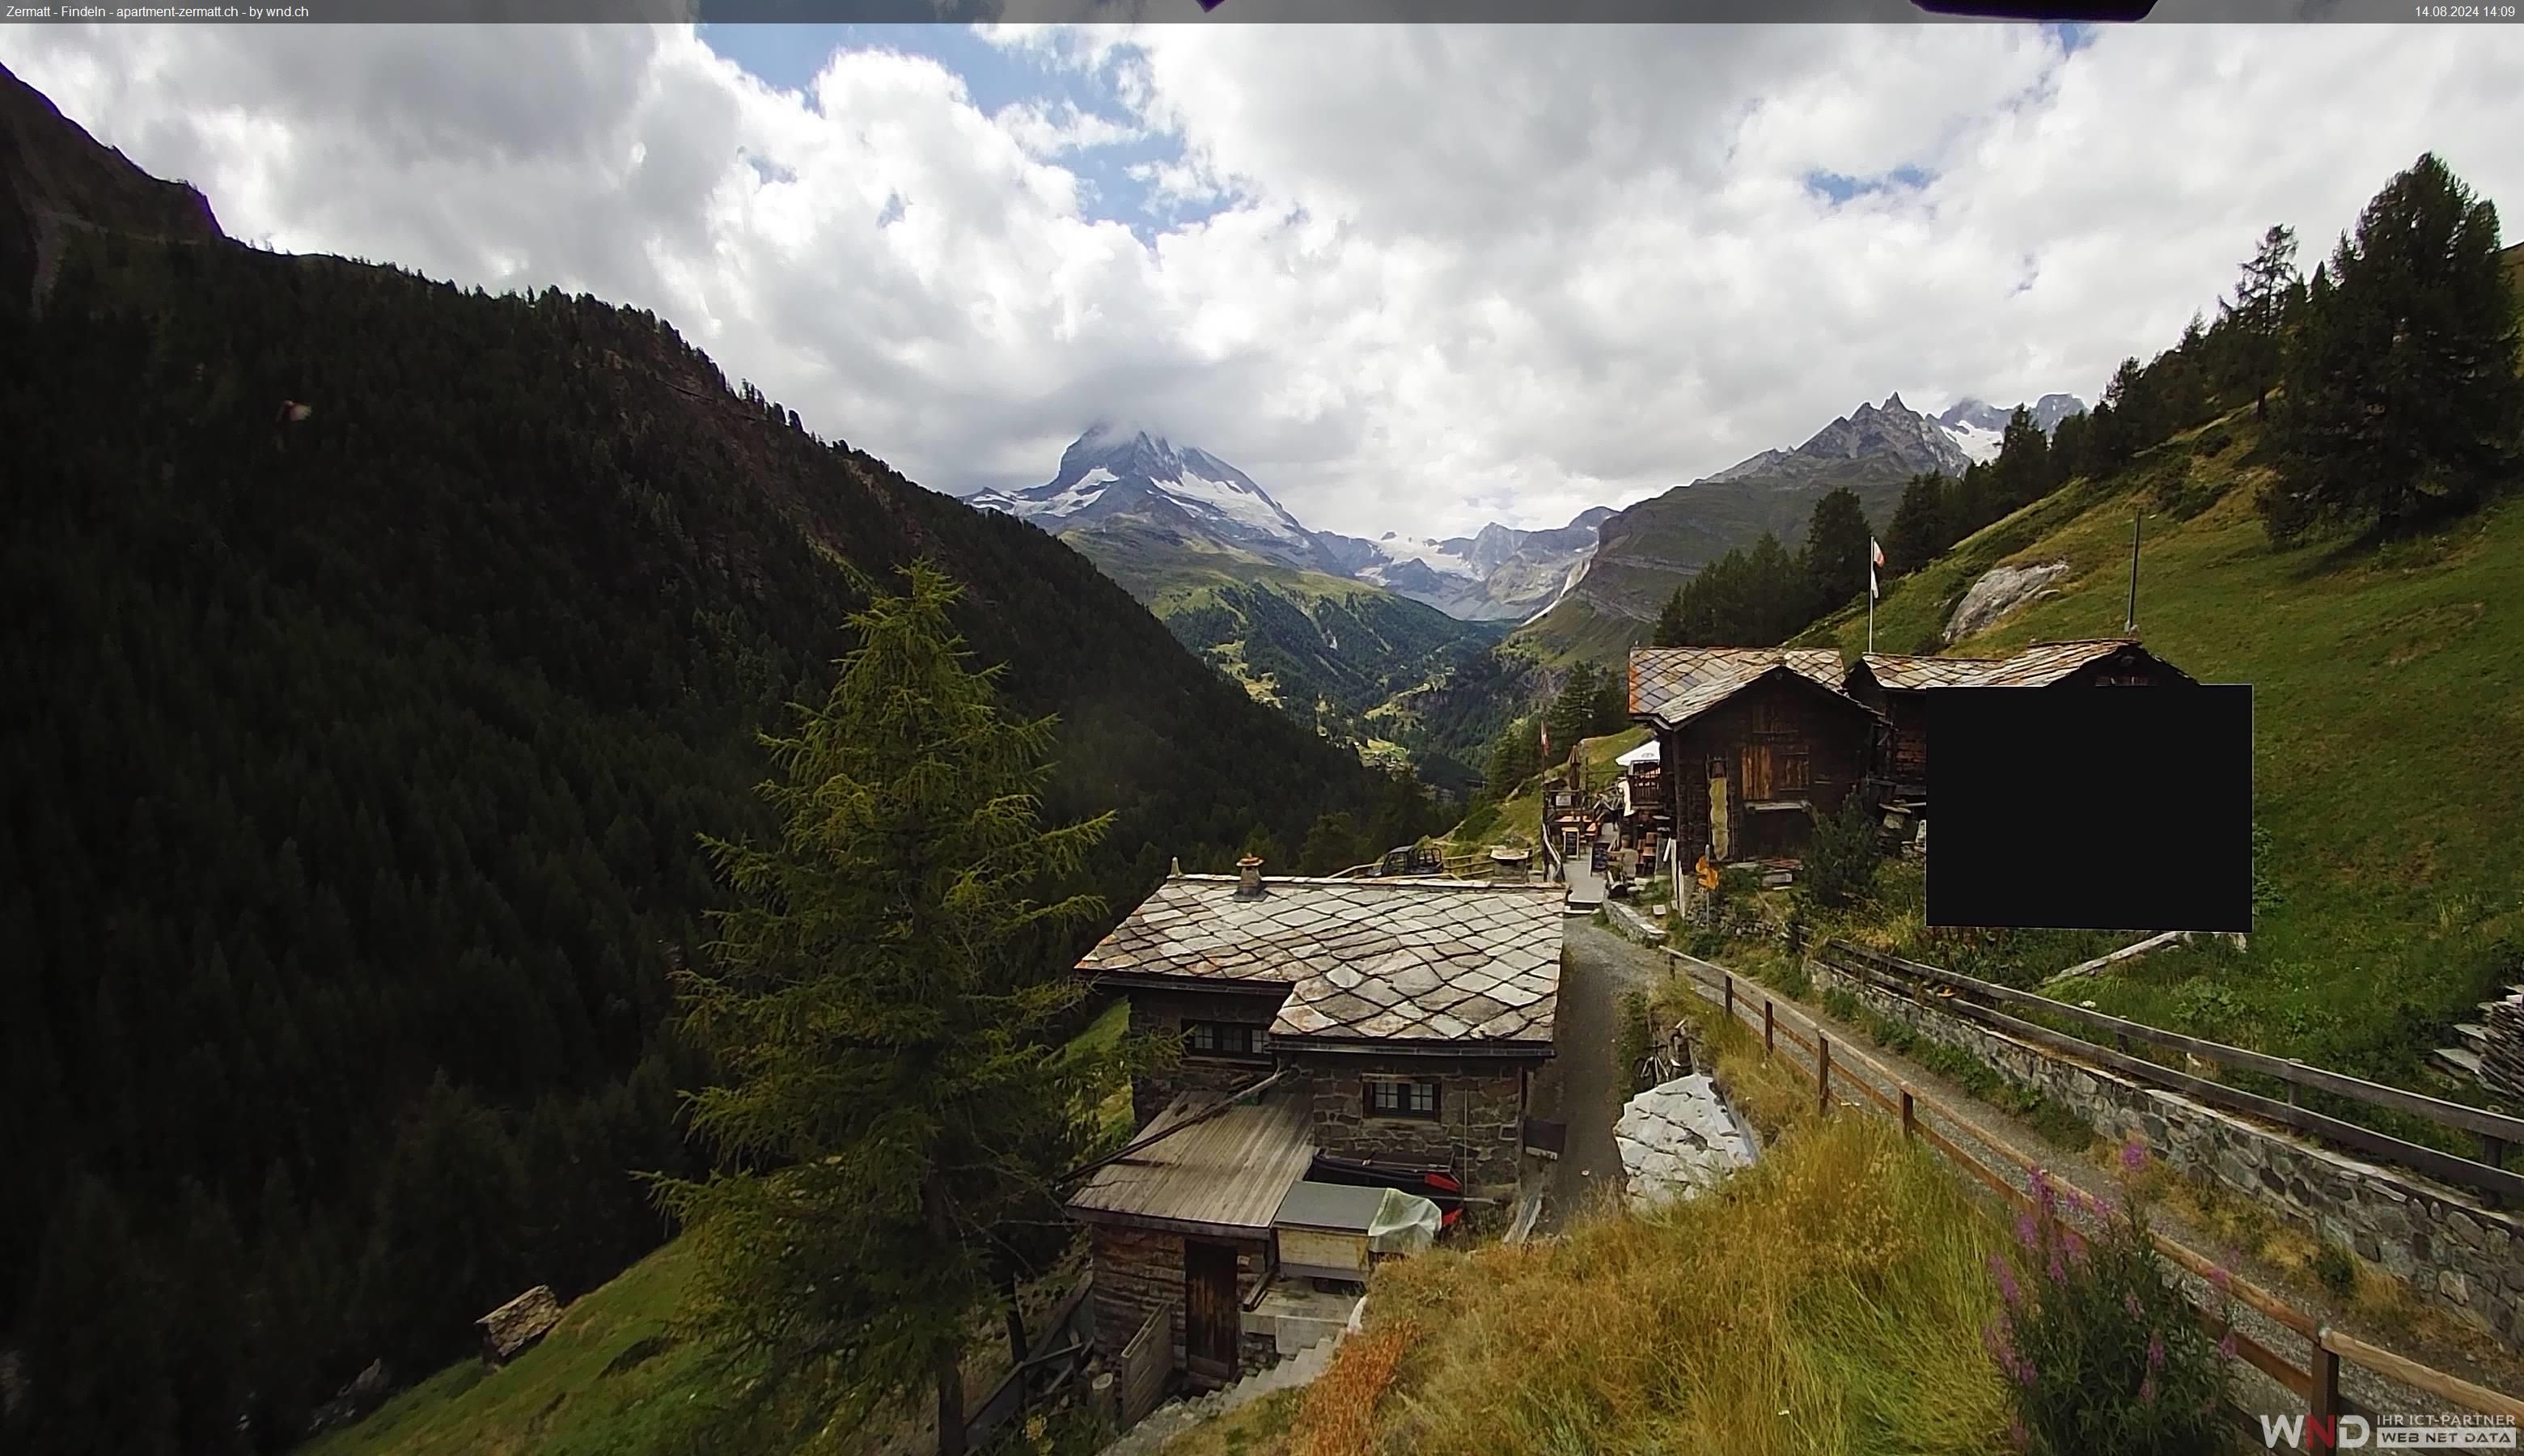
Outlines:
<svg viewBox="0 0 2524 1456"><path fill-rule="evenodd" d="M1358 1057L1287 1055L1282 1065L1315 1105L1315 1148L1335 1158L1376 1158L1446 1168L1466 1194L1507 1196L1524 1156L1524 1077L1537 1062L1512 1057ZM1368 1115L1365 1077L1434 1077L1436 1118Z"/></svg>

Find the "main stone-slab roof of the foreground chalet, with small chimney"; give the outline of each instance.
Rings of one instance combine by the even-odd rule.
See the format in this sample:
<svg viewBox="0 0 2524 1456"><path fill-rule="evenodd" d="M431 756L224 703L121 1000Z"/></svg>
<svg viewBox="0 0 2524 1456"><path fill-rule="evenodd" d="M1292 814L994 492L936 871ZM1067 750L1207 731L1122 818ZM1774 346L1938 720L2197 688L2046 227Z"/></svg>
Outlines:
<svg viewBox="0 0 2524 1456"><path fill-rule="evenodd" d="M1174 876L1078 961L1098 977L1280 982L1280 1042L1547 1047L1560 886Z"/></svg>

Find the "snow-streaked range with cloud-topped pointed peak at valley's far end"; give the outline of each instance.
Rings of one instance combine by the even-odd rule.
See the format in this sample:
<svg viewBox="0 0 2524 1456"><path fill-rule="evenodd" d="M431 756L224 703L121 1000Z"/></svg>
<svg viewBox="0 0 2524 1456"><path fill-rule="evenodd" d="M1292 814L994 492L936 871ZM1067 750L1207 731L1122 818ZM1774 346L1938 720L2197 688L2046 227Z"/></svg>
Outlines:
<svg viewBox="0 0 2524 1456"><path fill-rule="evenodd" d="M1121 543L1249 555L1381 585L1461 621L1522 621L1550 606L1613 515L1595 507L1555 530L1487 525L1446 540L1315 532L1224 459L1123 424L1080 434L1045 484L964 500L1055 535L1075 530L1108 553Z"/></svg>

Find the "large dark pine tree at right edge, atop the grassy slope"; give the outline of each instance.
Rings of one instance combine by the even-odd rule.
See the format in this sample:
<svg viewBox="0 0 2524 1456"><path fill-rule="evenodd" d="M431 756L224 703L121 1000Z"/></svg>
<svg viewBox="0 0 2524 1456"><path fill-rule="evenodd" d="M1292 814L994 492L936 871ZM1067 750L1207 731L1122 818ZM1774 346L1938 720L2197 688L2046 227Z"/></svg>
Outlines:
<svg viewBox="0 0 2524 1456"><path fill-rule="evenodd" d="M2274 537L2393 535L2479 505L2524 421L2499 214L2436 154L2393 177L2315 270L2284 363Z"/></svg>

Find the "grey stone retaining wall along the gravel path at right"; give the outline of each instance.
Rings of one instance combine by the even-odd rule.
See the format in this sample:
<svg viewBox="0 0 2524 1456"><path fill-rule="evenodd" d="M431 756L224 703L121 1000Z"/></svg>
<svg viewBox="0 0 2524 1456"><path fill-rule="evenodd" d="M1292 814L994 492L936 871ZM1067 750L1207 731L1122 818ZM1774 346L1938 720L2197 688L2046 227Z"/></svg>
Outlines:
<svg viewBox="0 0 2524 1456"><path fill-rule="evenodd" d="M2524 1219L2514 1211L2072 1062L1822 961L1810 959L1807 972L1817 987L1840 987L1868 1009L1971 1052L2019 1088L2075 1108L2097 1133L2143 1138L2158 1158L2259 1199L2380 1264L2426 1302L2524 1347Z"/></svg>

